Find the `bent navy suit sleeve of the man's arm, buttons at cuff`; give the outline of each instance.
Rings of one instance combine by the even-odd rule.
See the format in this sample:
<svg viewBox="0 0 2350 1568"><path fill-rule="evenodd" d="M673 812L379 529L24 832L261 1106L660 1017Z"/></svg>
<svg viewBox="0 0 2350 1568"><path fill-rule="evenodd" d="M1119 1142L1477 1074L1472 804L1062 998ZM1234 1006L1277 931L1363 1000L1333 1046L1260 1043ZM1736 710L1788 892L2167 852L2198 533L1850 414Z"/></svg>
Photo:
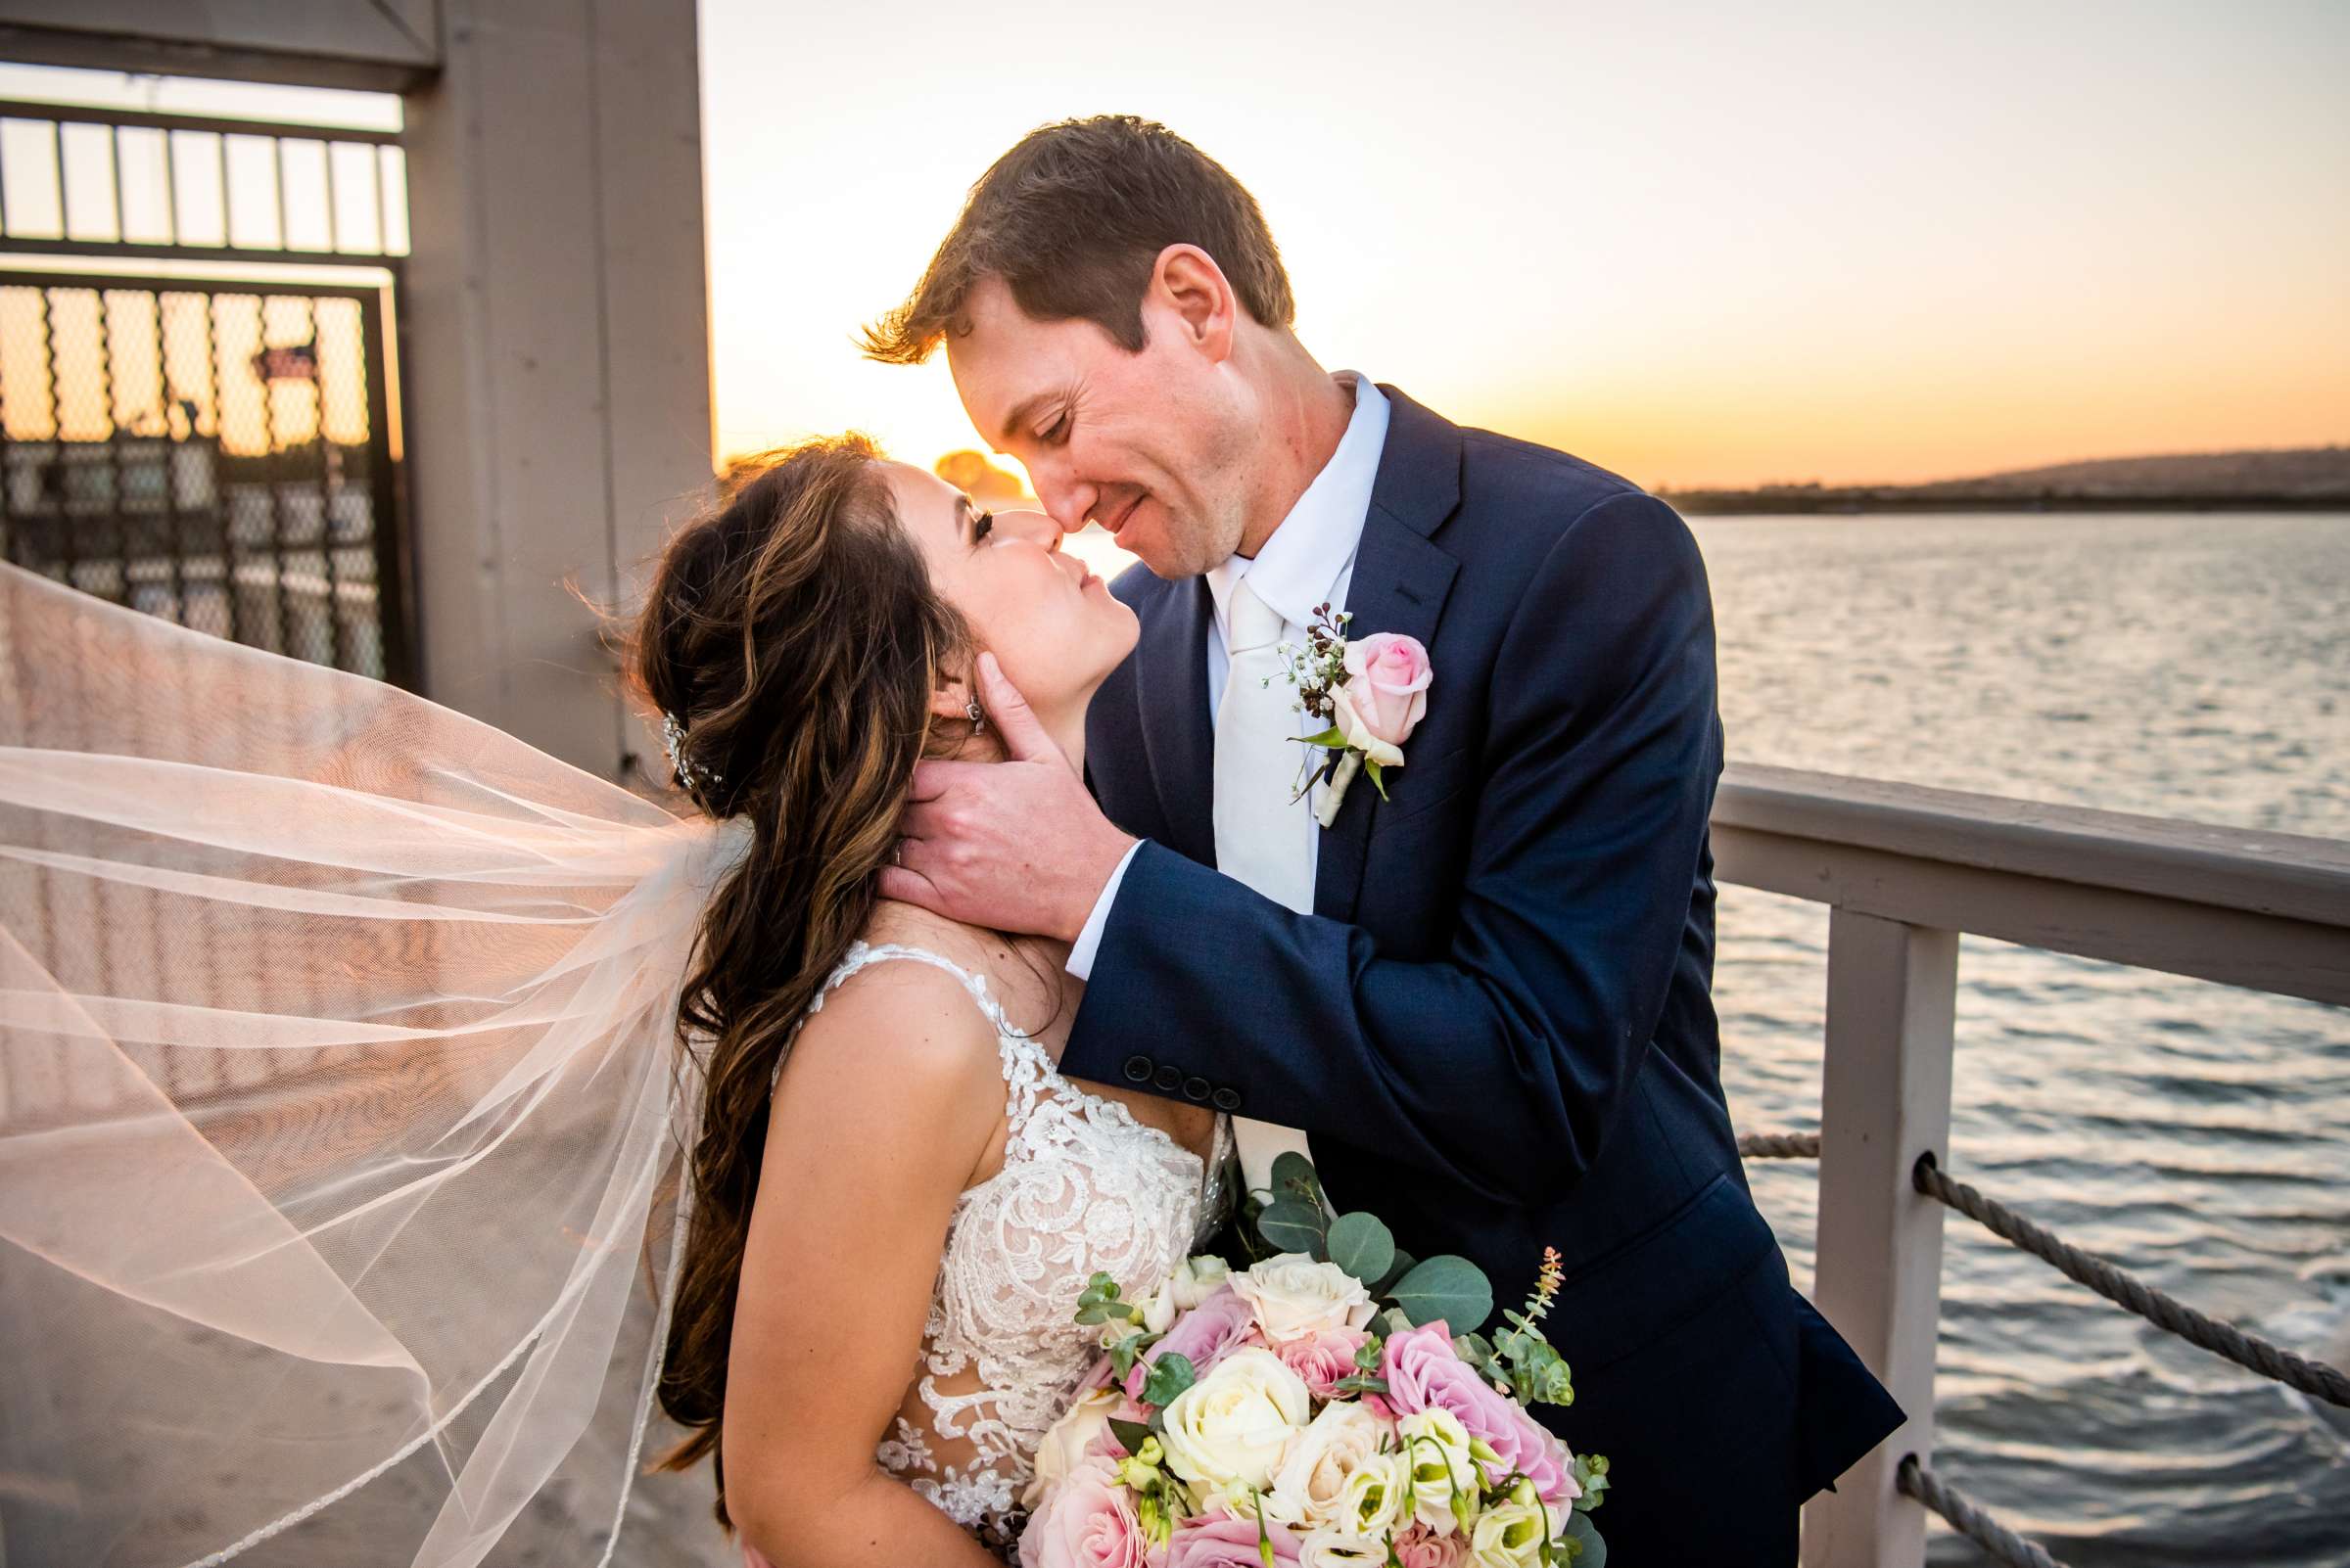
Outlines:
<svg viewBox="0 0 2350 1568"><path fill-rule="evenodd" d="M1149 1052L1236 1089L1241 1115L1391 1150L1497 1202L1570 1190L1664 1012L1720 775L1713 613L1680 516L1638 493L1579 514L1483 702L1443 960L1382 958L1361 927L1144 843L1062 1068L1123 1082Z"/></svg>

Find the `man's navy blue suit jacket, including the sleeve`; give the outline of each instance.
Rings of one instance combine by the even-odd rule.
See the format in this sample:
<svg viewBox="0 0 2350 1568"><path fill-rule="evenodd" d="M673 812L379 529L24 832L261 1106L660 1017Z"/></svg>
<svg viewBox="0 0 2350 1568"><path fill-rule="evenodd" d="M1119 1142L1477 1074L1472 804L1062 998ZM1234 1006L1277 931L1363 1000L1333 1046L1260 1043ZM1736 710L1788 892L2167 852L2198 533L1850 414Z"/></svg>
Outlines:
<svg viewBox="0 0 2350 1568"><path fill-rule="evenodd" d="M1553 1425L1617 1465L1610 1547L1772 1561L1781 1526L1746 1509L1784 1495L1791 1561L1793 1502L1899 1411L1786 1284L1723 1103L1704 563L1624 479L1386 394L1344 608L1429 648L1405 765L1386 800L1349 789L1311 915L1217 876L1208 587L1119 577L1142 638L1086 772L1147 843L1062 1070L1304 1127L1340 1209L1504 1300L1556 1246L1577 1401ZM1725 1446L1751 1486L1725 1488Z"/></svg>

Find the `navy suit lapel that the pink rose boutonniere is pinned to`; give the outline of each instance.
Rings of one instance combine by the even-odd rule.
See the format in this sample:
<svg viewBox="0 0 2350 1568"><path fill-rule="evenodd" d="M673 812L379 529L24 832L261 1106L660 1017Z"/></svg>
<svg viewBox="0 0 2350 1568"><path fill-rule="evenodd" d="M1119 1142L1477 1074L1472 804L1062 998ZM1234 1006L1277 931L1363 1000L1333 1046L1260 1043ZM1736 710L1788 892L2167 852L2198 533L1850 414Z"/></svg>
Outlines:
<svg viewBox="0 0 2350 1568"><path fill-rule="evenodd" d="M1354 615L1347 636L1401 631L1434 648L1459 561L1429 542L1429 533L1459 507L1462 434L1403 392L1386 385L1379 390L1391 404L1386 448L1379 453L1379 477L1347 584L1347 610ZM1314 873L1316 915L1354 922L1377 815L1379 791L1358 777L1347 789L1337 819L1323 829Z"/></svg>

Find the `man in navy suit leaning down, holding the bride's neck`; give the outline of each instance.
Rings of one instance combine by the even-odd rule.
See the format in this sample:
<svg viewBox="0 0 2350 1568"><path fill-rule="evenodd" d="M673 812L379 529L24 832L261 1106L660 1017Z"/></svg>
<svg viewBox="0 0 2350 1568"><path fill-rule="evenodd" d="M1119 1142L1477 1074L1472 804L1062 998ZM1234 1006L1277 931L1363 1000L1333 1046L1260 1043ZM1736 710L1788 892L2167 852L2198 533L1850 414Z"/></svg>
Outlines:
<svg viewBox="0 0 2350 1568"><path fill-rule="evenodd" d="M1614 474L1325 373L1292 319L1248 190L1102 117L1006 153L867 333L945 345L1055 521L1149 568L1093 793L989 671L1015 761L926 765L884 892L1069 941L1067 1075L1295 1124L1340 1209L1504 1298L1556 1246L1577 1399L1537 1408L1614 1462L1612 1554L1793 1563L1798 1505L1901 1413L1788 1286L1723 1103L1697 547ZM1434 671L1386 798L1356 779L1328 829L1276 653L1325 603Z"/></svg>

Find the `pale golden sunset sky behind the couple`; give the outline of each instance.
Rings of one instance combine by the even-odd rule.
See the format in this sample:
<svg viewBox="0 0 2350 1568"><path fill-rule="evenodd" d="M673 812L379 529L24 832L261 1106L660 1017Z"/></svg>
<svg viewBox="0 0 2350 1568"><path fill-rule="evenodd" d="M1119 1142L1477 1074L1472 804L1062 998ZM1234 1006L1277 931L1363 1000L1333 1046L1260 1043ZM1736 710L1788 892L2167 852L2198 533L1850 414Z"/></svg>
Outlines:
<svg viewBox="0 0 2350 1568"><path fill-rule="evenodd" d="M703 0L717 448L975 444L853 333L1107 110L1255 190L1323 364L1647 486L2350 441L2350 5L1629 9ZM400 120L0 66L59 82Z"/></svg>

